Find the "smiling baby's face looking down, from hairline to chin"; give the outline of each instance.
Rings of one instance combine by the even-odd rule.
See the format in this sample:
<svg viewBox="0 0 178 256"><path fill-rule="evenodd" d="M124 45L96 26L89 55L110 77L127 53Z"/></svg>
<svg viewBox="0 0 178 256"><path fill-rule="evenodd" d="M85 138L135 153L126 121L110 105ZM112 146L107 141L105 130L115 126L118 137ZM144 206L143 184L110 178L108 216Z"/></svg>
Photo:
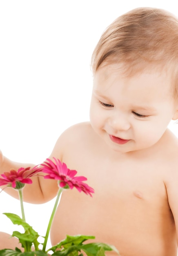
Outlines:
<svg viewBox="0 0 178 256"><path fill-rule="evenodd" d="M113 150L126 153L151 147L175 117L170 79L162 73L152 70L126 77L117 65L97 70L91 125Z"/></svg>

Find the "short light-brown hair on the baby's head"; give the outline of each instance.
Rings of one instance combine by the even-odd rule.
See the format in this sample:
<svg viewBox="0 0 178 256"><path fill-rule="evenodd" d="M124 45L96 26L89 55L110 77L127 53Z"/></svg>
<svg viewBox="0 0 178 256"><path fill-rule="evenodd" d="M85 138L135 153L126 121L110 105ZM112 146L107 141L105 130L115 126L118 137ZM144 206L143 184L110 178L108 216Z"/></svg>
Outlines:
<svg viewBox="0 0 178 256"><path fill-rule="evenodd" d="M131 75L149 65L171 68L178 80L178 20L168 11L141 7L118 17L102 34L94 49L93 75L100 65L124 64Z"/></svg>

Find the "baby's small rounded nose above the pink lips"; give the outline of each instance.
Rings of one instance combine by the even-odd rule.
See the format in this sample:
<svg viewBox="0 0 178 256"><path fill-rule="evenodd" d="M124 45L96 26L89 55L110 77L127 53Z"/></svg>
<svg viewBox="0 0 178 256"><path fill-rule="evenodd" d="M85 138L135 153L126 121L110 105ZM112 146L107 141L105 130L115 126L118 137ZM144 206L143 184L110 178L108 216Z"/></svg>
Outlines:
<svg viewBox="0 0 178 256"><path fill-rule="evenodd" d="M129 130L131 127L131 124L129 122L129 118L127 115L122 114L122 113L114 113L112 116L109 118L109 126L113 128L113 130Z"/></svg>

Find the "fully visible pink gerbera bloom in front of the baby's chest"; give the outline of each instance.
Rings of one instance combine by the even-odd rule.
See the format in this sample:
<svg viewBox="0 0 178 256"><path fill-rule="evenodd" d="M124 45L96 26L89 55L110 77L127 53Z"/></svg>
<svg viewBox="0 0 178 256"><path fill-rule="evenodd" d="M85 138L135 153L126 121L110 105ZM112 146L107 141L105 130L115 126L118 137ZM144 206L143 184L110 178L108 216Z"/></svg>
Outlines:
<svg viewBox="0 0 178 256"><path fill-rule="evenodd" d="M92 189L90 186L83 182L87 180L86 177L75 177L77 171L70 170L69 168L67 168L67 165L60 162L59 159L56 159L54 157L53 159L55 163L50 159L47 159L48 162L44 162L44 164L41 164L43 166L42 172L48 173L48 175L44 176L45 179L59 180L60 187L70 189L76 187L79 192L83 191L85 194L92 197L91 193L94 193L94 189Z"/></svg>

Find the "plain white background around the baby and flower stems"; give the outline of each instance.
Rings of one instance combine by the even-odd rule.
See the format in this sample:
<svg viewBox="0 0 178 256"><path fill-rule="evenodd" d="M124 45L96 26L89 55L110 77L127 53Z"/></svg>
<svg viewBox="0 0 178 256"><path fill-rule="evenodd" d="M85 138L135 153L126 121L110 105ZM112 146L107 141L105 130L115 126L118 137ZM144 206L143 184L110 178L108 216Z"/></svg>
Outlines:
<svg viewBox="0 0 178 256"><path fill-rule="evenodd" d="M89 120L93 49L115 18L142 6L178 16L175 0L0 0L0 148L4 155L40 164L66 128ZM170 128L178 136L177 125ZM25 204L27 222L41 235L53 202ZM18 200L4 191L0 231L11 234L14 226L3 212L20 215Z"/></svg>

